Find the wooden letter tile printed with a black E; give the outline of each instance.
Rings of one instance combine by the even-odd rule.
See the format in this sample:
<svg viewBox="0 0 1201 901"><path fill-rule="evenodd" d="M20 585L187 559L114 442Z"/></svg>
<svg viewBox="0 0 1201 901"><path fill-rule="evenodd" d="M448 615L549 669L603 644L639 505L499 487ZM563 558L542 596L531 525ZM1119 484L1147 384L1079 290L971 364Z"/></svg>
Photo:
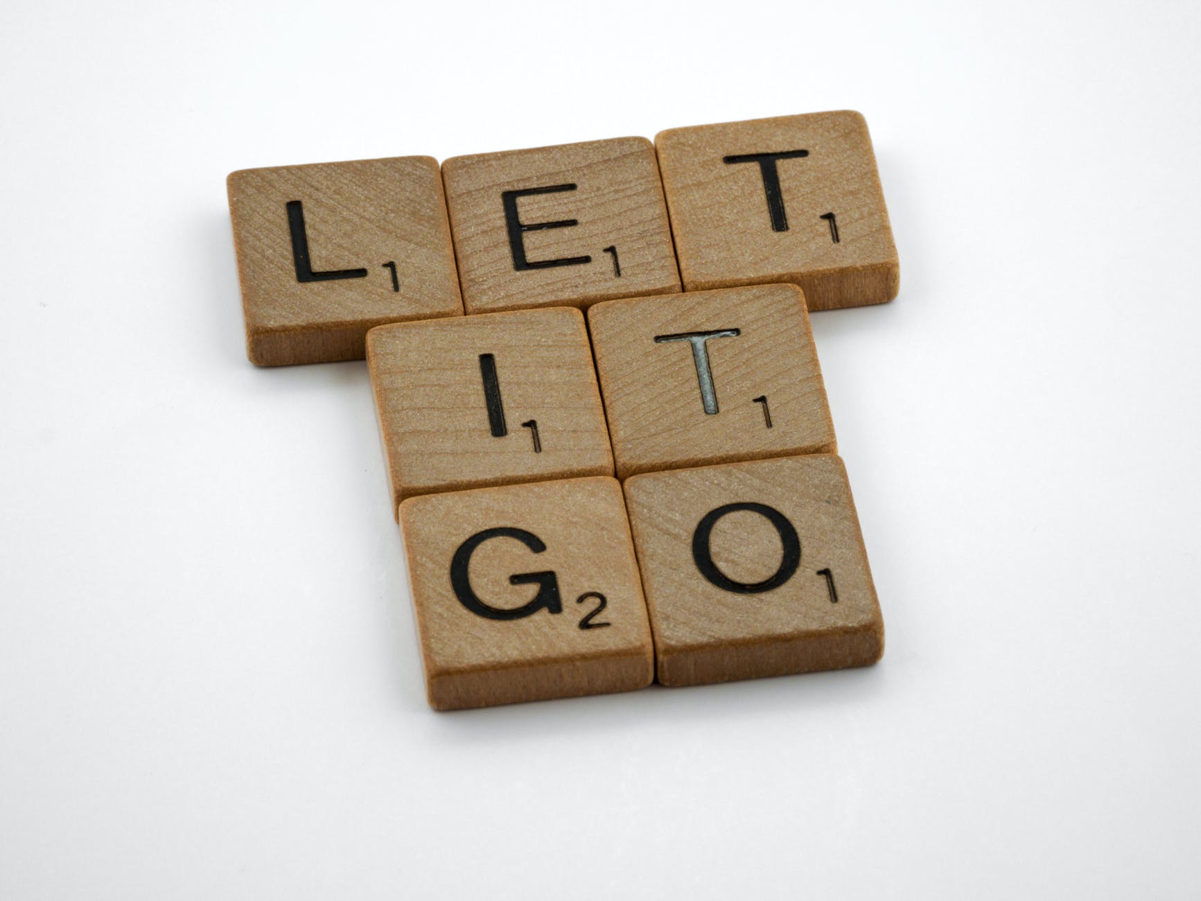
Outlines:
<svg viewBox="0 0 1201 901"><path fill-rule="evenodd" d="M680 291L646 138L442 163L468 314Z"/></svg>

